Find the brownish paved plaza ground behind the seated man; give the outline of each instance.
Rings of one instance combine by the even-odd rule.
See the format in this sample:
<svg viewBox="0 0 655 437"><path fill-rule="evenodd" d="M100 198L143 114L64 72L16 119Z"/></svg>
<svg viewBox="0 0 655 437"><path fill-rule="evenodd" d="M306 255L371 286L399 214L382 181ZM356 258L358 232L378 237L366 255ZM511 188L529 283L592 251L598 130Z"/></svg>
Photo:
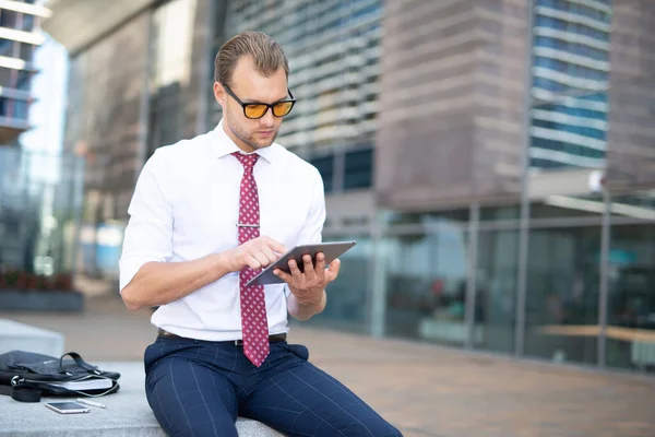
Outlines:
<svg viewBox="0 0 655 437"><path fill-rule="evenodd" d="M2 314L59 331L90 361L140 361L150 311L95 298L82 315ZM609 375L434 345L294 328L310 359L405 436L655 436L655 378Z"/></svg>

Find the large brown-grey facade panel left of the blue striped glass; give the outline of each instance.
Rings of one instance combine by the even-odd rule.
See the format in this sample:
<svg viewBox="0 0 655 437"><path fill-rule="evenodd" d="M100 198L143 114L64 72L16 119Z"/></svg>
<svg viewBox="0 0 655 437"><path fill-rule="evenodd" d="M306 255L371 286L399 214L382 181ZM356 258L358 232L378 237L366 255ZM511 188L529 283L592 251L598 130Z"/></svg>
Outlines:
<svg viewBox="0 0 655 437"><path fill-rule="evenodd" d="M523 0L390 2L376 191L386 208L517 198Z"/></svg>

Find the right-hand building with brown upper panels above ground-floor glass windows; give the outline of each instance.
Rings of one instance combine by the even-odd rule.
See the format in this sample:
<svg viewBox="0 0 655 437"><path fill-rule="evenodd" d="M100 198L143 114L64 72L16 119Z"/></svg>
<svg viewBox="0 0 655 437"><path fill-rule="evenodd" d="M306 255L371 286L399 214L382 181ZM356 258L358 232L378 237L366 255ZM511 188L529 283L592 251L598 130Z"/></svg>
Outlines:
<svg viewBox="0 0 655 437"><path fill-rule="evenodd" d="M475 10L414 1L388 11L385 38L409 38L430 13L450 13L450 21L421 62L451 60L453 70L434 73L422 94L451 99L404 105L405 113L432 113L426 121L433 127L413 127L422 149L394 131L424 113L402 119L401 110L382 108L391 127L379 137L376 174L391 182L376 187L386 208L374 269L383 292L373 293L383 298L373 304L372 327L474 350L655 370L653 4L535 0ZM475 38L462 35L472 27L478 55L467 59ZM390 62L410 61L400 44L388 47ZM457 63L465 68L457 72ZM397 84L401 74L409 80L415 68L383 70L382 88L393 90L385 80ZM527 95L517 111L516 90ZM449 120L441 130L440 119ZM462 140L460 127L473 134ZM432 156L431 178L427 164L415 177L397 170L409 165L400 150L415 161ZM462 199L466 205L457 205Z"/></svg>

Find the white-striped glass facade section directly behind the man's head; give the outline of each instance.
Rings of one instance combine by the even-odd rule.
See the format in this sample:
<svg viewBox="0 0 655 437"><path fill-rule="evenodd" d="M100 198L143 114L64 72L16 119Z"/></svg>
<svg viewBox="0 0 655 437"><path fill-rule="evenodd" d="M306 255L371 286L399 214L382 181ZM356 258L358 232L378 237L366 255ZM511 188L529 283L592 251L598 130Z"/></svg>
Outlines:
<svg viewBox="0 0 655 437"><path fill-rule="evenodd" d="M381 3L233 1L226 26L219 28L221 35L258 29L283 46L298 104L285 119L278 141L321 170L327 193L372 184ZM219 106L214 107L212 123L219 118Z"/></svg>

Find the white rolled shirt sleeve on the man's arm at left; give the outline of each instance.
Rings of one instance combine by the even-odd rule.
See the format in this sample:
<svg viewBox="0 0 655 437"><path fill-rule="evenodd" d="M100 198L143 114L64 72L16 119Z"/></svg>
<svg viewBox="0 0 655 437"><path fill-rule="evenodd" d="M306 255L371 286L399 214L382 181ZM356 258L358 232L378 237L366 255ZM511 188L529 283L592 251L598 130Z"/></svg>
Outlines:
<svg viewBox="0 0 655 437"><path fill-rule="evenodd" d="M119 261L121 292L143 264L164 262L172 255L172 205L159 168L160 156L155 153L139 176L128 209L130 220Z"/></svg>

